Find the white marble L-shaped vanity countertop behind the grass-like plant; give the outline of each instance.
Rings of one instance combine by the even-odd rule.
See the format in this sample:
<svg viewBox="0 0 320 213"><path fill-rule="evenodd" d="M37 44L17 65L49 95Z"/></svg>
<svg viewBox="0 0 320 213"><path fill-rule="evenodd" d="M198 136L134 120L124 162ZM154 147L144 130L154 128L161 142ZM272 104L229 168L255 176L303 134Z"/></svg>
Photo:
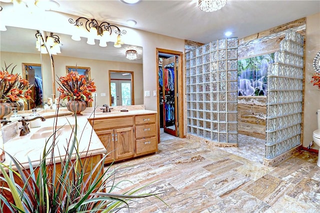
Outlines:
<svg viewBox="0 0 320 213"><path fill-rule="evenodd" d="M152 110L135 109L125 112L112 111L93 113L93 109L93 107L87 107L85 111L82 112L83 115L77 116L76 120L75 116L72 115L46 118L45 121L41 121L40 127L30 128L29 134L24 136L17 135L5 142L4 150L15 157L25 168L29 167L28 158L30 159L32 166L36 166L39 164L39 160L42 157L45 144L47 143L47 149L48 146L52 144L53 137L51 134L53 133L53 126L56 126L56 135L58 136L55 140L54 156L56 162L59 162L60 157L66 154L65 149L70 146L70 143L72 142L74 135L74 133L72 133L72 127L76 126L80 157L103 154L106 152L106 149L89 124L88 118L107 118L156 112ZM41 113L39 114L41 115ZM70 137L71 135L72 137ZM73 154L75 154L75 151L73 151ZM50 155L46 157L46 159L47 163L49 163ZM3 163L5 165L11 163L11 159L7 153ZM12 167L14 169L14 166Z"/></svg>

